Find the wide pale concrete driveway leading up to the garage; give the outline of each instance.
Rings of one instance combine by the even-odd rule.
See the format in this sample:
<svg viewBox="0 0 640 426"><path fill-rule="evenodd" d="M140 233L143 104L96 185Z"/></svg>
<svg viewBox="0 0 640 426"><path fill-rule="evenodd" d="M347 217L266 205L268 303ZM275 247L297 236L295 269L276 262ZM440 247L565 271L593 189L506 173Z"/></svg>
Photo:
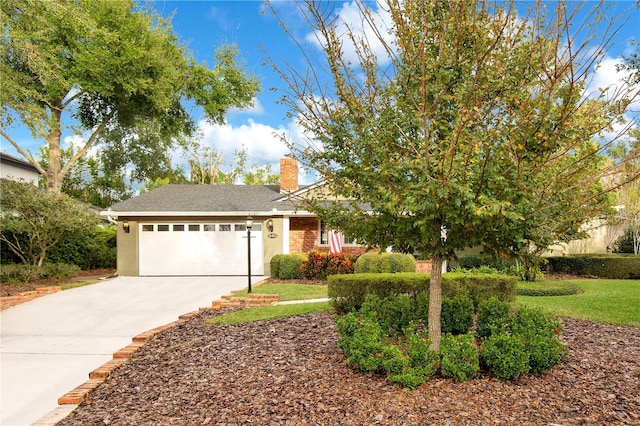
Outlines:
<svg viewBox="0 0 640 426"><path fill-rule="evenodd" d="M118 277L0 312L0 424L31 425L134 336L246 285L246 277Z"/></svg>

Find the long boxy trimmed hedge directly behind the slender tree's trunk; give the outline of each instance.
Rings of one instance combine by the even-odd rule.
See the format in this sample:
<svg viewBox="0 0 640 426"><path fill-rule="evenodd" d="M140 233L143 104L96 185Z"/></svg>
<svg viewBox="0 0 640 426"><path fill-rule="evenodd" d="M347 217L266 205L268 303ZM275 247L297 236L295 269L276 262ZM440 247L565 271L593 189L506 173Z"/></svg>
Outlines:
<svg viewBox="0 0 640 426"><path fill-rule="evenodd" d="M359 309L367 295L380 298L407 294L417 296L429 292L430 276L415 272L387 274L332 275L328 278L328 293L334 309L346 313ZM448 273L442 277L442 296L465 295L475 307L492 296L505 302L516 297L516 277L498 274Z"/></svg>

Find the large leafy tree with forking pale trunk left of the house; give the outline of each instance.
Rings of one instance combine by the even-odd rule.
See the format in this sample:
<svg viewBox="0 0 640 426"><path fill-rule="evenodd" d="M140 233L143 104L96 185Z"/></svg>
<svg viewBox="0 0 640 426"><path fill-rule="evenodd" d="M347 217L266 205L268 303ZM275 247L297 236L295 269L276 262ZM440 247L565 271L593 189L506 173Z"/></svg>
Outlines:
<svg viewBox="0 0 640 426"><path fill-rule="evenodd" d="M221 122L230 107L246 107L258 82L222 46L215 65L196 63L169 22L134 0L3 0L0 3L2 100L0 134L59 192L65 174L99 141L138 165L194 129L190 110ZM12 137L25 126L48 148L45 170ZM106 131L121 137L116 144ZM61 137L83 143L68 161ZM131 148L130 150L128 148Z"/></svg>

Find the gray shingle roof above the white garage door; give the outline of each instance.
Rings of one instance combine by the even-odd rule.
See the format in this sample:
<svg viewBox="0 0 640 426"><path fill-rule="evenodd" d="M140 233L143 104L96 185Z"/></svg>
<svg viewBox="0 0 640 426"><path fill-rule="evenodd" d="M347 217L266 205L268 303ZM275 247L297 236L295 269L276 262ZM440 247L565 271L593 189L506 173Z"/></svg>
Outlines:
<svg viewBox="0 0 640 426"><path fill-rule="evenodd" d="M164 185L111 206L113 213L292 211L278 185Z"/></svg>

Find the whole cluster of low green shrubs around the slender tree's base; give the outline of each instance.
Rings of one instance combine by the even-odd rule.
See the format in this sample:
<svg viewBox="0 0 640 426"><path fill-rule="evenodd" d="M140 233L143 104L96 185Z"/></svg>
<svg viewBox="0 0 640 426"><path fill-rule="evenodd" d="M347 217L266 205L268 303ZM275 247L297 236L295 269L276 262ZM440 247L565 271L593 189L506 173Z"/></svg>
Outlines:
<svg viewBox="0 0 640 426"><path fill-rule="evenodd" d="M456 381L478 374L480 355L473 332L444 333L440 352L429 349L425 292L382 298L370 294L358 311L336 315L339 347L347 362L362 371L385 373L389 380L416 387L436 373ZM443 299L443 330L447 322L467 331L473 303L467 296ZM424 316L423 316L424 315ZM478 335L483 335L482 361L502 380L522 374L543 374L567 355L559 340L561 323L539 309L511 307L493 297L480 303ZM451 327L456 328L456 327Z"/></svg>

